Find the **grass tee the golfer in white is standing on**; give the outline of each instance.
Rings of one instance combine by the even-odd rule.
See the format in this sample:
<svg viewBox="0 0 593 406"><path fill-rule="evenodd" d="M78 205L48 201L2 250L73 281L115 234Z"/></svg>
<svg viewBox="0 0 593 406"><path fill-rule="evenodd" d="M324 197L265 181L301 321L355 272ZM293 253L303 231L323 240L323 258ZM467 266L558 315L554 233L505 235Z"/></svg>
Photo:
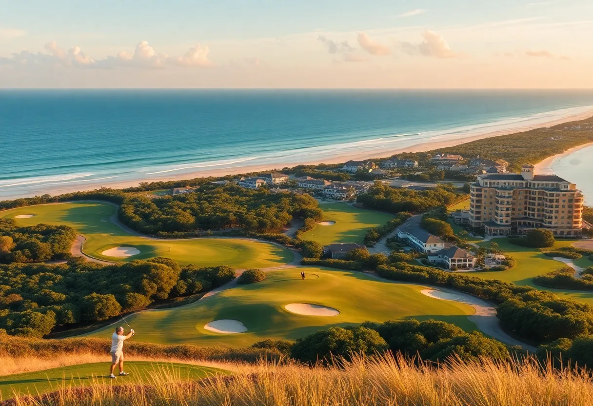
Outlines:
<svg viewBox="0 0 593 406"><path fill-rule="evenodd" d="M109 360L101 363L71 365L36 372L0 376L0 395L2 400L20 396L37 395L56 391L69 386L84 386L95 383L121 385L122 383L142 383L162 374L176 379L200 379L213 375L227 375L229 372L210 367L190 364L126 361L128 376L109 378ZM116 369L117 373L117 369Z"/></svg>

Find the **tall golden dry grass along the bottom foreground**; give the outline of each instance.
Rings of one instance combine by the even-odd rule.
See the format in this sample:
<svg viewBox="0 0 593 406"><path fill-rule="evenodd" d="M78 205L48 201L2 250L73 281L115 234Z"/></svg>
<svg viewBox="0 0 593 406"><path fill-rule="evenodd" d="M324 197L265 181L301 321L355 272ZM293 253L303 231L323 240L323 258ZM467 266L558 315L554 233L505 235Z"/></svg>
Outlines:
<svg viewBox="0 0 593 406"><path fill-rule="evenodd" d="M225 366L227 369L231 369ZM342 367L297 363L239 364L231 377L188 382L163 370L146 385L63 388L15 405L208 406L578 406L593 404L590 376L537 361L490 360L416 366L391 356L358 358Z"/></svg>

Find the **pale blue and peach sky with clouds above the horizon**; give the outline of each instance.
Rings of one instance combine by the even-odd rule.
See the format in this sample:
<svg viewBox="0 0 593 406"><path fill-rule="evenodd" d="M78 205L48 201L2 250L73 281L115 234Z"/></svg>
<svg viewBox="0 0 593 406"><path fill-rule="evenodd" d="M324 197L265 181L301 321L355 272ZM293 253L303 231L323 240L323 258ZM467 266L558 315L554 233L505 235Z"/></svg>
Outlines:
<svg viewBox="0 0 593 406"><path fill-rule="evenodd" d="M0 0L0 87L593 87L591 37L585 0Z"/></svg>

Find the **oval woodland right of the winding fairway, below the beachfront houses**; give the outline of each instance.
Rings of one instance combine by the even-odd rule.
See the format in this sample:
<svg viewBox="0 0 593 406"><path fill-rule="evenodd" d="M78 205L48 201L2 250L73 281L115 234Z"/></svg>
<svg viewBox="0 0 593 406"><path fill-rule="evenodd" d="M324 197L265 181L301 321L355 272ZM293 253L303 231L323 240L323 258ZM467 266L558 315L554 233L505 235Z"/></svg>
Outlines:
<svg viewBox="0 0 593 406"><path fill-rule="evenodd" d="M146 234L240 227L267 232L285 226L292 217L321 220L323 213L309 195L251 190L237 185L203 185L195 193L149 199L126 199L120 220Z"/></svg>

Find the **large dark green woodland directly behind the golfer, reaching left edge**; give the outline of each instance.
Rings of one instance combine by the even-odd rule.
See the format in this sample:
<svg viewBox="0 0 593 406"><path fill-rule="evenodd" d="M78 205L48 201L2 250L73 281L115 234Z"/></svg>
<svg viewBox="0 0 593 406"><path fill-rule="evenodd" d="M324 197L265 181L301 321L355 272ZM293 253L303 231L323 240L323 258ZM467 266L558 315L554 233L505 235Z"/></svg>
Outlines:
<svg viewBox="0 0 593 406"><path fill-rule="evenodd" d="M155 300L221 286L235 270L221 265L180 268L171 259L101 265L71 258L67 264L0 265L0 329L42 337L55 326L93 323Z"/></svg>

